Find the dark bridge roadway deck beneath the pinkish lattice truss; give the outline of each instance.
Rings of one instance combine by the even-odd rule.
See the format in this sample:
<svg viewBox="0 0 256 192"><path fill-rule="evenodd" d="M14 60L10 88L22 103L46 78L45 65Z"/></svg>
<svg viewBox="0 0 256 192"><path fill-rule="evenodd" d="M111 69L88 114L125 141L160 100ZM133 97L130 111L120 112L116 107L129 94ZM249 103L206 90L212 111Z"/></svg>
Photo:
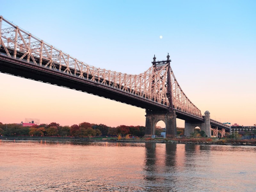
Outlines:
<svg viewBox="0 0 256 192"><path fill-rule="evenodd" d="M36 65L26 60L8 57L5 53L1 52L0 72L90 93L148 110L165 111L168 109L166 105L139 97L129 92L124 92L111 86L91 81L90 79L80 78L59 70ZM178 109L176 109L176 115L177 118L187 121L203 121L203 117L194 116L193 114Z"/></svg>

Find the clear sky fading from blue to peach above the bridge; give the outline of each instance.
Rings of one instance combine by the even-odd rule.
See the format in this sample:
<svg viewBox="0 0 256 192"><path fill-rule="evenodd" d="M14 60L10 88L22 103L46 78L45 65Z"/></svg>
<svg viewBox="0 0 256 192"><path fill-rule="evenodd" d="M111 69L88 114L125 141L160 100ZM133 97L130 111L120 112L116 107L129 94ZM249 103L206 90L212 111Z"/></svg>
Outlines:
<svg viewBox="0 0 256 192"><path fill-rule="evenodd" d="M0 1L4 18L96 67L138 74L154 54L164 60L169 52L181 88L202 112L244 125L256 123L255 10L256 1L234 0ZM144 111L134 111L143 125Z"/></svg>

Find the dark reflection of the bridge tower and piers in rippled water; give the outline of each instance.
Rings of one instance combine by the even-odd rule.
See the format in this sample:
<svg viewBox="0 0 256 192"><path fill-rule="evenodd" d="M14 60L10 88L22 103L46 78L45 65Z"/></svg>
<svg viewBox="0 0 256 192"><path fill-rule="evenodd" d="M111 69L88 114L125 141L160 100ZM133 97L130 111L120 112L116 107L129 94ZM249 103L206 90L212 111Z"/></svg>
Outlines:
<svg viewBox="0 0 256 192"><path fill-rule="evenodd" d="M202 159L198 160L198 157L200 153L209 153L211 146L146 143L145 149L144 179L150 181L148 187L157 189L158 183L166 182L167 191L176 191L180 182L189 182L186 180L191 175L187 170L204 166L201 164Z"/></svg>

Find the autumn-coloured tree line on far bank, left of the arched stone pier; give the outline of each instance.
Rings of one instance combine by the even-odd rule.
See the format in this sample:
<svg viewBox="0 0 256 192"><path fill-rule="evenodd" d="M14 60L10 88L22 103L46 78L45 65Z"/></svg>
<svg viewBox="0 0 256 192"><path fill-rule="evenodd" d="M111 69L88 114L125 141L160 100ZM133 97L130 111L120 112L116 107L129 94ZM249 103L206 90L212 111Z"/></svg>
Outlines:
<svg viewBox="0 0 256 192"><path fill-rule="evenodd" d="M109 127L104 124L91 124L83 122L71 126L60 126L52 122L50 124L33 125L23 127L21 124L2 124L0 122L0 135L2 136L60 136L60 137L90 137L90 136L117 136L131 135L143 137L144 126L119 125Z"/></svg>

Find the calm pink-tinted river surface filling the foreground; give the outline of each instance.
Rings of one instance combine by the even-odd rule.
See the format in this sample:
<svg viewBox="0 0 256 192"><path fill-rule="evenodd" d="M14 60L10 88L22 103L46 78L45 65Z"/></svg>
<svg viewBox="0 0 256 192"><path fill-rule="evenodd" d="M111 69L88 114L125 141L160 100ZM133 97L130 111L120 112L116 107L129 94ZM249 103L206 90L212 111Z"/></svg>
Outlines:
<svg viewBox="0 0 256 192"><path fill-rule="evenodd" d="M256 191L256 147L0 140L0 191Z"/></svg>

